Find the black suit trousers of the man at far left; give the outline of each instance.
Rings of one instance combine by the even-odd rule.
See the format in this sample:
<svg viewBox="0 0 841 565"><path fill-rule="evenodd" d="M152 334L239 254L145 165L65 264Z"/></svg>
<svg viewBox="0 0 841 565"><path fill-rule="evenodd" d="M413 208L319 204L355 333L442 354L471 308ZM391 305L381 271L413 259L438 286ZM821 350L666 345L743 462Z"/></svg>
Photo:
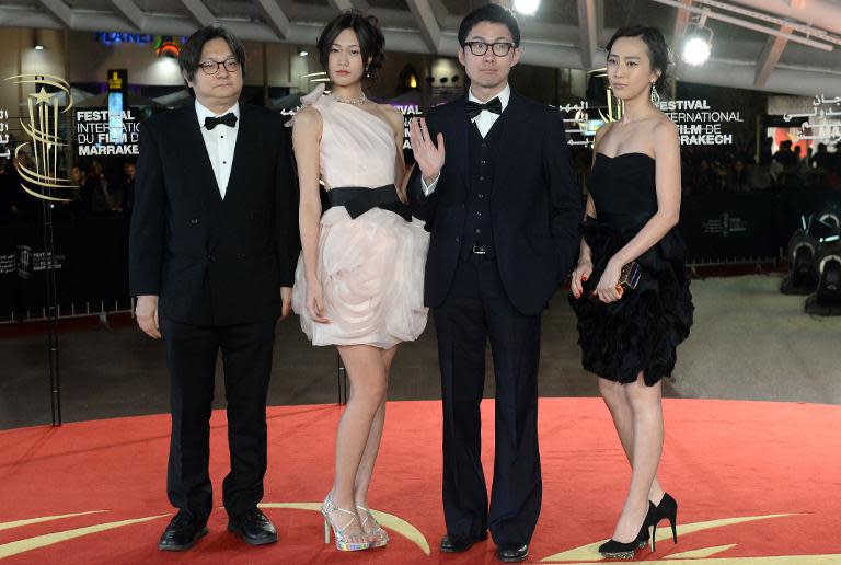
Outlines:
<svg viewBox="0 0 841 565"><path fill-rule="evenodd" d="M170 503L207 521L212 510L210 412L216 359L222 353L231 469L222 504L231 516L263 498L266 474L266 395L276 320L230 326L161 321L170 370L172 436L166 473Z"/></svg>

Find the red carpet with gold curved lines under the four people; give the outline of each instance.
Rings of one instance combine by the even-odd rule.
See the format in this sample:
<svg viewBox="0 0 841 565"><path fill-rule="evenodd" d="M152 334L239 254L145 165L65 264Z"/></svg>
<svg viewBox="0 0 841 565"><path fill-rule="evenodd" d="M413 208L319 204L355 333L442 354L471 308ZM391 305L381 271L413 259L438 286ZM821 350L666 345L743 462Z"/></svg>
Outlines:
<svg viewBox="0 0 841 565"><path fill-rule="evenodd" d="M630 471L607 410L596 399L541 400L543 510L532 562L599 561ZM493 468L493 404L485 402L485 469ZM841 407L666 400L660 477L680 504L679 543L658 531L641 561L693 564L841 563ZM330 488L336 406L269 412L265 512L280 542L249 547L224 531L191 552L157 541L165 498L169 416L130 417L0 433L0 560L3 563L494 563L492 542L441 555L440 403L389 404L371 504L392 542L337 554L314 511ZM212 420L211 476L228 466L223 413ZM489 477L488 477L489 478ZM88 514L82 514L88 512ZM70 515L70 516L67 516ZM665 524L665 522L664 522ZM428 547L427 547L428 544ZM428 551L428 555L427 552Z"/></svg>

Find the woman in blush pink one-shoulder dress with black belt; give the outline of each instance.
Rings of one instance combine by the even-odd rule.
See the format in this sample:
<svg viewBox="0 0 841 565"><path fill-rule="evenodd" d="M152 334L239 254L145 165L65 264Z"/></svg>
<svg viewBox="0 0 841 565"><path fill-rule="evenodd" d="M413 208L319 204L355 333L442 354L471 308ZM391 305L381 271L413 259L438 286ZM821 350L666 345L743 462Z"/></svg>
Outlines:
<svg viewBox="0 0 841 565"><path fill-rule="evenodd" d="M336 436L325 538L358 551L388 543L368 506L398 344L426 326L423 279L429 235L403 203L403 116L362 92L383 60L377 21L356 10L333 20L318 48L333 83L303 99L292 139L300 177L301 260L292 307L313 345L335 345L350 380ZM322 215L319 185L330 209Z"/></svg>

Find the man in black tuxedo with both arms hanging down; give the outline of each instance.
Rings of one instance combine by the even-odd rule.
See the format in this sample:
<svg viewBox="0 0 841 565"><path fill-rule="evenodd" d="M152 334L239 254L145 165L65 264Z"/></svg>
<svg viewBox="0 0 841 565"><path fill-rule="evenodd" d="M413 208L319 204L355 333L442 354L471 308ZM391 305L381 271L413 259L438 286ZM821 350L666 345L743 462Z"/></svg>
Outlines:
<svg viewBox="0 0 841 565"><path fill-rule="evenodd" d="M196 100L142 125L129 250L137 321L166 350L172 403L166 493L178 509L159 549L189 549L212 508L209 418L222 351L231 471L228 529L277 541L257 509L266 472L266 394L278 315L299 253L291 149L283 119L239 104L245 54L221 27L183 46Z"/></svg>

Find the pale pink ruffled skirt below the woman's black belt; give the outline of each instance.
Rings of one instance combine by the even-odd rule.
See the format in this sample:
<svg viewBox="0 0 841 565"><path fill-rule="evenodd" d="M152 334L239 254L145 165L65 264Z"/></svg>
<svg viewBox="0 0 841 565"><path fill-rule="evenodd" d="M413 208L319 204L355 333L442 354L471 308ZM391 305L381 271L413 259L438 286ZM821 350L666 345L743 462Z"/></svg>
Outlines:
<svg viewBox="0 0 841 565"><path fill-rule="evenodd" d="M307 309L303 256L298 260L292 309L313 345L389 348L426 327L424 268L429 233L424 222L372 208L352 219L344 207L321 219L318 276L327 324Z"/></svg>

